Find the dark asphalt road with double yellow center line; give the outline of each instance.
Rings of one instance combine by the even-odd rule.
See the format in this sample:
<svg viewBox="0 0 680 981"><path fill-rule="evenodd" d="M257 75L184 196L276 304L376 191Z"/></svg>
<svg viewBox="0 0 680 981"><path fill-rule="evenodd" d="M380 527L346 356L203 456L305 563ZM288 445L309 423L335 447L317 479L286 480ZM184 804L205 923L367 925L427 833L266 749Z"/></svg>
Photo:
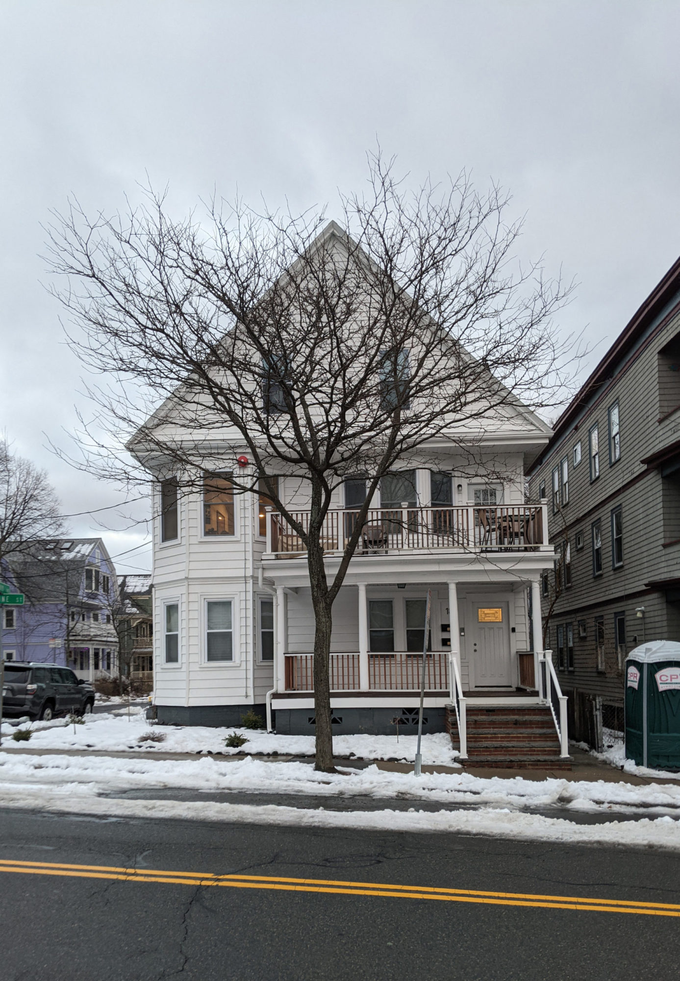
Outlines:
<svg viewBox="0 0 680 981"><path fill-rule="evenodd" d="M130 868L140 881L122 881ZM167 881L178 872L238 883ZM538 898L680 904L679 873L667 852L0 810L0 978L676 979L677 916Z"/></svg>

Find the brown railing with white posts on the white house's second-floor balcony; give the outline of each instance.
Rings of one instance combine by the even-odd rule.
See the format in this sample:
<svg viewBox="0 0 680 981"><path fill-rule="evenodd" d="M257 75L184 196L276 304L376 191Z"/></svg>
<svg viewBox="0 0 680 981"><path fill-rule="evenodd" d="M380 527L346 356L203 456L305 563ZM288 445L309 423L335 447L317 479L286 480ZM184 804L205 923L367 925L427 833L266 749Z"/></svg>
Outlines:
<svg viewBox="0 0 680 981"><path fill-rule="evenodd" d="M291 512L305 533L309 511ZM326 553L340 554L357 527L357 511L328 511L320 541ZM546 504L507 507L404 507L368 511L358 555L438 549L533 551L546 544ZM267 515L267 553L279 558L304 554L305 542L280 514Z"/></svg>

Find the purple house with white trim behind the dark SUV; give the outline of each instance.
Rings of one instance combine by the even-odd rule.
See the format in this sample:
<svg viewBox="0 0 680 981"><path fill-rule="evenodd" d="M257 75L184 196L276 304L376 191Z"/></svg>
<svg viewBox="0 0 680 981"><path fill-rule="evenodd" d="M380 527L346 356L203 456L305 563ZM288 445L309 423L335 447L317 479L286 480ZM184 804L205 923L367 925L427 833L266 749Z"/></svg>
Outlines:
<svg viewBox="0 0 680 981"><path fill-rule="evenodd" d="M25 595L24 606L0 607L6 660L61 664L88 681L118 673L118 584L101 539L34 542L0 580Z"/></svg>

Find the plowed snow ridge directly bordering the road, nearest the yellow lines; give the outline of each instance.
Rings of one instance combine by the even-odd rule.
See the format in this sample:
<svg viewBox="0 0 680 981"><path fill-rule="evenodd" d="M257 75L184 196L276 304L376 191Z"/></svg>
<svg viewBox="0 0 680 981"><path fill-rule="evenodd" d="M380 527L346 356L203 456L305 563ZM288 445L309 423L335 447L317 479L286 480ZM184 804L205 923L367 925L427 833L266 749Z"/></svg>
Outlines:
<svg viewBox="0 0 680 981"><path fill-rule="evenodd" d="M147 760L139 762L146 764ZM160 762L158 761L156 765ZM207 762L209 760L200 763L192 762L191 765L200 766ZM215 765L214 761L210 762ZM261 765L280 767L304 764L261 763ZM458 776L453 779L458 779ZM546 842L680 850L680 822L668 816L652 820L643 818L641 821L584 825L497 807L435 812L418 811L414 807L409 811L391 809L333 811L321 807L313 810L275 804L216 803L211 800L116 800L98 798L90 787L83 788L73 784L62 787L60 791L55 792L54 789L44 786L5 785L2 796L3 806L20 808L39 806L52 813L74 812L127 819L156 817L265 825L361 828L382 832L389 828L393 832L449 832L492 835L524 841L534 839Z"/></svg>

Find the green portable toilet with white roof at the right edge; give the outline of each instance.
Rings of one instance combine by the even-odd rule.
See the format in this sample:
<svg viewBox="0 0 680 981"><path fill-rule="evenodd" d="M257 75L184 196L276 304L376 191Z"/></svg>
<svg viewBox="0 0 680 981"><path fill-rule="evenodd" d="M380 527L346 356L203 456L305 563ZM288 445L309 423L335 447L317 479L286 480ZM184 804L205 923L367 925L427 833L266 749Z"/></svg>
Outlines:
<svg viewBox="0 0 680 981"><path fill-rule="evenodd" d="M626 757L680 770L680 644L652 641L626 658Z"/></svg>

